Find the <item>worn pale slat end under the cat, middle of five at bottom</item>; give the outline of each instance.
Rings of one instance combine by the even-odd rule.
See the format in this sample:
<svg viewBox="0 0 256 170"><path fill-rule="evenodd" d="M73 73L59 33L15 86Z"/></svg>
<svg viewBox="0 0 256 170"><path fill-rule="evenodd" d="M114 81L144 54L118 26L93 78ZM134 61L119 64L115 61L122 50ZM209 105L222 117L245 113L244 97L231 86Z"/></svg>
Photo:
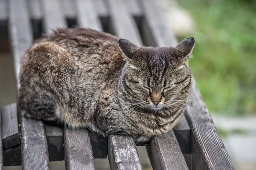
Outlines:
<svg viewBox="0 0 256 170"><path fill-rule="evenodd" d="M142 170L136 144L131 136L108 137L108 160L111 170Z"/></svg>

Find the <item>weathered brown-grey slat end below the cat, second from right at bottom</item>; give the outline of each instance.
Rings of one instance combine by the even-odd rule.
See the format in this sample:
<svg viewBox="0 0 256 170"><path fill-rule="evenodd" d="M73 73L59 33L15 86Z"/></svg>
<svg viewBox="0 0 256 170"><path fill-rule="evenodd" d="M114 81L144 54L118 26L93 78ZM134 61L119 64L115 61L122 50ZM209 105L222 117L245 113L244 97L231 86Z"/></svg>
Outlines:
<svg viewBox="0 0 256 170"><path fill-rule="evenodd" d="M153 137L147 150L155 170L188 170L173 130Z"/></svg>

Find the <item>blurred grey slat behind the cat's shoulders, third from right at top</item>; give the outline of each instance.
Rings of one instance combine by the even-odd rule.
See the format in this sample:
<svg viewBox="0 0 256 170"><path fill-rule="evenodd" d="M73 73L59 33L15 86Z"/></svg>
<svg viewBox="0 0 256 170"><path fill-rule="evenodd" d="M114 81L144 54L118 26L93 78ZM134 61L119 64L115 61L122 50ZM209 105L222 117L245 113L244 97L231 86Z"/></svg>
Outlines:
<svg viewBox="0 0 256 170"><path fill-rule="evenodd" d="M76 9L79 26L102 30L93 0L76 0Z"/></svg>

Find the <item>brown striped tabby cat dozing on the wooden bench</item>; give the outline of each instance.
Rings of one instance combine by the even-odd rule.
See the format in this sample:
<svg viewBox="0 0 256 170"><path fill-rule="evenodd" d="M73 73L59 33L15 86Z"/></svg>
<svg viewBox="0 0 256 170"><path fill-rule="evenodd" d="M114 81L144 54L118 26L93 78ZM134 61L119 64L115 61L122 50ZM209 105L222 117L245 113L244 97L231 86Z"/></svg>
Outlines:
<svg viewBox="0 0 256 170"><path fill-rule="evenodd" d="M21 59L21 114L146 142L183 115L194 45L186 38L175 48L139 47L89 28L58 28Z"/></svg>

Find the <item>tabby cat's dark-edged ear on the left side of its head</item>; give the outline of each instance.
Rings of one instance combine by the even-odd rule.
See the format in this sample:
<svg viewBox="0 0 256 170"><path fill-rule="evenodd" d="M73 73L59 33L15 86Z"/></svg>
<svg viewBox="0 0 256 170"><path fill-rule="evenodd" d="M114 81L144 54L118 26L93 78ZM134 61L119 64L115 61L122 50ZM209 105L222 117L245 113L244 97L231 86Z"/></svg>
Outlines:
<svg viewBox="0 0 256 170"><path fill-rule="evenodd" d="M138 47L137 45L131 43L129 40L126 40L126 39L118 40L118 45L120 50L123 52L123 54L125 54L125 56L131 60L133 59L133 57L135 57L133 55L134 52L140 49L140 47Z"/></svg>

